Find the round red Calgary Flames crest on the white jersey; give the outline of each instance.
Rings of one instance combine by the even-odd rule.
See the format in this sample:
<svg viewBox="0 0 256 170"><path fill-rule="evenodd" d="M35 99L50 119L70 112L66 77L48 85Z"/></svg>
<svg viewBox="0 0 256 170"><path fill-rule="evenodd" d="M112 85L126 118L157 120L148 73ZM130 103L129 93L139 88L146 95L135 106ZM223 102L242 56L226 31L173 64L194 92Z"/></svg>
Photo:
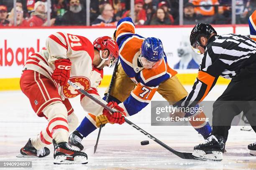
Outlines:
<svg viewBox="0 0 256 170"><path fill-rule="evenodd" d="M74 82L75 85L79 86L83 90L88 90L91 87L90 80L87 77L71 77L69 78L70 81ZM66 98L73 98L77 95L80 95L80 92L77 91L72 85L64 85L62 87L61 93Z"/></svg>

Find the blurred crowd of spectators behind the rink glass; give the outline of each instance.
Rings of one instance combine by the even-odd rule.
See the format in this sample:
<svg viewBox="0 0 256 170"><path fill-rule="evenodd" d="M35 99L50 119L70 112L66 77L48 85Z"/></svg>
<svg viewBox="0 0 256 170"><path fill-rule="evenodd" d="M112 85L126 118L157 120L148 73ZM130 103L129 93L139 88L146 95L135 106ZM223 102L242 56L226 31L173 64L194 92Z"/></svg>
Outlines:
<svg viewBox="0 0 256 170"><path fill-rule="evenodd" d="M0 26L86 25L86 0L0 0ZM90 25L115 26L131 16L130 0L91 0ZM50 9L50 23L47 9ZM236 24L247 24L256 0L236 0ZM183 24L231 24L231 0L184 0ZM179 25L179 0L134 0L135 25Z"/></svg>

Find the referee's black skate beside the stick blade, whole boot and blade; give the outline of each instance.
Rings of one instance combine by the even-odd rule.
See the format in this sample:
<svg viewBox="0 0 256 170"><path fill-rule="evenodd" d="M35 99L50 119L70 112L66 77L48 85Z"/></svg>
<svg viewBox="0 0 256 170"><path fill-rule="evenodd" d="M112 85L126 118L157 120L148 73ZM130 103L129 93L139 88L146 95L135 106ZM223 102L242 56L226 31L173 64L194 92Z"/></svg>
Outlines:
<svg viewBox="0 0 256 170"><path fill-rule="evenodd" d="M206 143L195 146L192 155L202 158L202 160L221 161L223 159L222 154L225 151L225 139L221 136L216 138L211 135L207 140Z"/></svg>

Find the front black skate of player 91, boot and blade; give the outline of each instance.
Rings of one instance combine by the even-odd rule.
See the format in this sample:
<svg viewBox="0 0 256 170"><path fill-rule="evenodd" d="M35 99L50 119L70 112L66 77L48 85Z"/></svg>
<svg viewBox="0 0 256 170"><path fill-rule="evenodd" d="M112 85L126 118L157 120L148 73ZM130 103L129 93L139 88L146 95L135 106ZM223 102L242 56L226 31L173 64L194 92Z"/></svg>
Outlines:
<svg viewBox="0 0 256 170"><path fill-rule="evenodd" d="M67 142L54 144L54 164L87 164L87 155L79 150L74 150Z"/></svg>

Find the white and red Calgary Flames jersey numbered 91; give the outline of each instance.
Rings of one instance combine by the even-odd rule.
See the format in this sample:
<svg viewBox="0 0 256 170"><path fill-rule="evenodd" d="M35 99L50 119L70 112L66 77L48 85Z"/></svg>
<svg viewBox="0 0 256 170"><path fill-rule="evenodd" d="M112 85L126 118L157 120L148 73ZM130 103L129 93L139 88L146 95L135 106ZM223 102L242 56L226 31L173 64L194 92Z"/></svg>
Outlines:
<svg viewBox="0 0 256 170"><path fill-rule="evenodd" d="M46 48L32 54L23 70L34 70L51 79L58 88L62 100L73 98L80 95L80 92L69 84L60 86L51 78L55 60L67 58L72 62L69 80L106 103L97 92L103 70L92 66L94 47L85 37L64 32L50 35L46 40ZM81 95L81 105L85 111L95 116L102 114L103 108L84 95Z"/></svg>

